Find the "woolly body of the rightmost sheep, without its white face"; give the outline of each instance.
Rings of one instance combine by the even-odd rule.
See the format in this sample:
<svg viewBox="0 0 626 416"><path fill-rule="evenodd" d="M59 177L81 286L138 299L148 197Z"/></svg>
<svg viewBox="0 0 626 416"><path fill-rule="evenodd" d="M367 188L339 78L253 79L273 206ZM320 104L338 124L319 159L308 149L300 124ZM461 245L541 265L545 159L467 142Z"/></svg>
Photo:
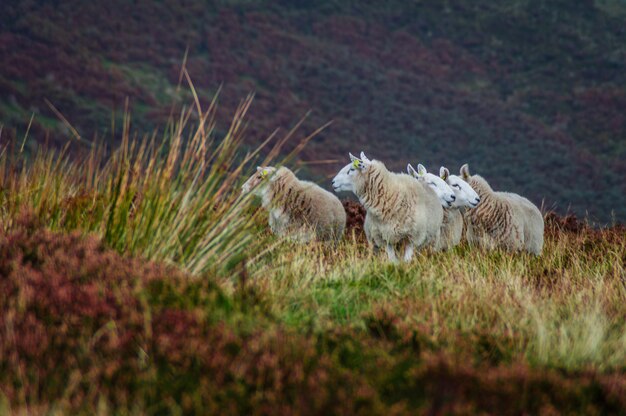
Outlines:
<svg viewBox="0 0 626 416"><path fill-rule="evenodd" d="M461 177L478 193L481 203L464 214L470 243L508 250L526 250L540 255L543 249L543 216L528 199L508 192L495 192L479 175L470 175L467 164Z"/></svg>

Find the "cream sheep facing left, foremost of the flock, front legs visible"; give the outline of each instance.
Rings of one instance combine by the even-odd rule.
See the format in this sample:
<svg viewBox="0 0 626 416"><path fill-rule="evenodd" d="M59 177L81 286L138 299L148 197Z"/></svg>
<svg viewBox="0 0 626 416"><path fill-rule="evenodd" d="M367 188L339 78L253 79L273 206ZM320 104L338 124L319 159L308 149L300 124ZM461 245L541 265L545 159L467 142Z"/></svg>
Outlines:
<svg viewBox="0 0 626 416"><path fill-rule="evenodd" d="M384 247L397 263L396 246L404 244L404 261L438 237L443 210L437 195L409 175L391 173L382 162L363 152L342 168L332 181L335 192L353 192L365 207L365 235L375 247ZM419 186L416 186L418 184Z"/></svg>

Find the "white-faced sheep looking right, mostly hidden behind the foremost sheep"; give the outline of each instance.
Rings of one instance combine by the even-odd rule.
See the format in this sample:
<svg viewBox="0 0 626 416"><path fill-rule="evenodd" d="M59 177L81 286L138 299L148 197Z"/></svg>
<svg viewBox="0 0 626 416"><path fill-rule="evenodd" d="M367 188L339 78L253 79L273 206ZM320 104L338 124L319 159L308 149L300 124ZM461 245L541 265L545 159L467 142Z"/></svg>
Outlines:
<svg viewBox="0 0 626 416"><path fill-rule="evenodd" d="M442 168L445 169L445 168ZM440 169L440 175L448 172L447 169ZM411 164L407 166L410 175L429 185L439 197L441 206L443 207L443 221L439 232L439 238L433 242L435 250L449 249L459 244L461 234L463 233L463 218L461 212L456 206L455 191L446 183L448 175L439 177L426 170L426 168L418 164L417 171L413 169ZM469 185L467 185L469 188ZM473 192L473 191L472 191Z"/></svg>

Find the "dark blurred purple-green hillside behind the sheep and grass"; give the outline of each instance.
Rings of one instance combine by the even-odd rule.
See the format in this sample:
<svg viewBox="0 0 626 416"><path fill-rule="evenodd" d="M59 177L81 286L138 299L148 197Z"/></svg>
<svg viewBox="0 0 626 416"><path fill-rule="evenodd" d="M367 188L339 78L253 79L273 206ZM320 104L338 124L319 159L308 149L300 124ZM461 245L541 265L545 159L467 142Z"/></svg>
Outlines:
<svg viewBox="0 0 626 416"><path fill-rule="evenodd" d="M469 162L496 189L626 221L626 2L3 2L0 142L27 149L163 126L186 68L220 111L256 92L250 142L308 110L302 157L365 150L393 169ZM471 4L470 4L471 3ZM112 123L113 116L117 120ZM117 126L117 127L114 127ZM317 165L313 165L317 166Z"/></svg>

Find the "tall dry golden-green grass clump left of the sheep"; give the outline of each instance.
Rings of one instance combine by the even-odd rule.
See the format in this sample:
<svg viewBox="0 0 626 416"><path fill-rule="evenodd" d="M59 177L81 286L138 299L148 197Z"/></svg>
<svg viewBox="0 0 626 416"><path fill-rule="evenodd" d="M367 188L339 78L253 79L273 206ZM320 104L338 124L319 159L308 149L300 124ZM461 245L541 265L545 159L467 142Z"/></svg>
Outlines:
<svg viewBox="0 0 626 416"><path fill-rule="evenodd" d="M72 158L67 148L42 147L32 156L19 146L2 149L2 226L27 210L52 230L95 233L120 253L166 261L194 275L230 270L266 250L266 241L251 232L256 214L238 184L251 162L276 160L301 122L272 146L278 131L244 152L252 96L241 102L223 137L216 133L217 96L206 110L195 97L160 138L137 138L127 114L113 150L96 143Z"/></svg>

